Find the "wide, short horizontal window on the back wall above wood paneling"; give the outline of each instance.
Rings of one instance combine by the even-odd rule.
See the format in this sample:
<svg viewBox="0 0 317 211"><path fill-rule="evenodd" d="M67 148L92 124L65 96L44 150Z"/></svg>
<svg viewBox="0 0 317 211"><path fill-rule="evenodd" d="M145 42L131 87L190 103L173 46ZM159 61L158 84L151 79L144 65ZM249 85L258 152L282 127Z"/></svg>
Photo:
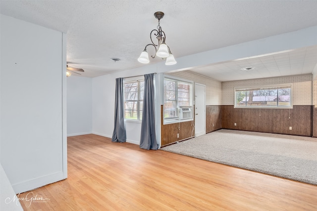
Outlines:
<svg viewBox="0 0 317 211"><path fill-rule="evenodd" d="M235 88L235 108L291 108L292 85Z"/></svg>

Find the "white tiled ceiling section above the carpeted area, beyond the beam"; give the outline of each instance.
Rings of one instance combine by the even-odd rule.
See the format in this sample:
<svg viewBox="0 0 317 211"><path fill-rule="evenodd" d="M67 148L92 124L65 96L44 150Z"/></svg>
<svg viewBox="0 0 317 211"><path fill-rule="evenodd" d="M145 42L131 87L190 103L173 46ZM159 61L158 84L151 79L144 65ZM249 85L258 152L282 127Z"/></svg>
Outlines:
<svg viewBox="0 0 317 211"><path fill-rule="evenodd" d="M225 82L310 74L316 65L317 45L197 67L191 71Z"/></svg>

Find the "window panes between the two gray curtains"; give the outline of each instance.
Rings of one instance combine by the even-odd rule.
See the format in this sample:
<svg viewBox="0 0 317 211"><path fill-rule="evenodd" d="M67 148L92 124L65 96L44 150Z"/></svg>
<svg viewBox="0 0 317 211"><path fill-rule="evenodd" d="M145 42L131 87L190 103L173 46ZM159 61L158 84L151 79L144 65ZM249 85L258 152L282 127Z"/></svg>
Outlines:
<svg viewBox="0 0 317 211"><path fill-rule="evenodd" d="M144 79L123 83L124 119L142 120Z"/></svg>

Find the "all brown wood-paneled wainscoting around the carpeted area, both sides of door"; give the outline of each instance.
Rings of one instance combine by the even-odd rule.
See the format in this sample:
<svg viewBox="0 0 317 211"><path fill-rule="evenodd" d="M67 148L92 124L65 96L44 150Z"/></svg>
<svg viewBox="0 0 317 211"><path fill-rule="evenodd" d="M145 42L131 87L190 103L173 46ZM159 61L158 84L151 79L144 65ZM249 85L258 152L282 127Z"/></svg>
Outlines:
<svg viewBox="0 0 317 211"><path fill-rule="evenodd" d="M313 105L297 105L293 106L293 109L208 105L206 106L206 133L218 129L317 137L317 108ZM194 135L195 129L191 121L163 125L163 106L161 106L161 146Z"/></svg>

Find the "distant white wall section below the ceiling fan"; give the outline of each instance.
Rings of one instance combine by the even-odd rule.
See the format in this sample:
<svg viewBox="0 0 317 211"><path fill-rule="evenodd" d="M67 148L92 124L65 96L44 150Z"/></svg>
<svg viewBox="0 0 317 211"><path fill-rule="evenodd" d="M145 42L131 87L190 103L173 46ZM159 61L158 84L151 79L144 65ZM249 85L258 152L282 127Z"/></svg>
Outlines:
<svg viewBox="0 0 317 211"><path fill-rule="evenodd" d="M67 78L67 136L93 131L92 79L74 75Z"/></svg>

